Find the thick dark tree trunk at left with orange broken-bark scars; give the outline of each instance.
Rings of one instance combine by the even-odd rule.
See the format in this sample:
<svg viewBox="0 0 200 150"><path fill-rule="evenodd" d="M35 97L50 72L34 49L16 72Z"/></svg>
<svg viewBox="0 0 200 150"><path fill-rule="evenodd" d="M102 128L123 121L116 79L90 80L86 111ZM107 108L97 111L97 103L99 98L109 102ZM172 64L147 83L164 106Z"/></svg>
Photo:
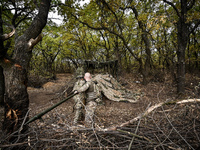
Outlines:
<svg viewBox="0 0 200 150"><path fill-rule="evenodd" d="M27 74L32 48L36 44L31 43L31 41L36 39L45 27L49 7L50 0L41 1L39 13L30 27L22 36L16 38L12 60L3 63L5 76L5 119L3 129L8 135L17 131L15 135L18 136L10 136L9 141L12 143L27 139L27 135L24 133L28 131L28 126L23 126L23 121L28 118L26 115L29 109ZM20 129L21 126L23 126L23 129ZM19 149L19 147L17 148ZM16 149L16 147L13 149ZM20 149L25 149L25 147L20 147Z"/></svg>

